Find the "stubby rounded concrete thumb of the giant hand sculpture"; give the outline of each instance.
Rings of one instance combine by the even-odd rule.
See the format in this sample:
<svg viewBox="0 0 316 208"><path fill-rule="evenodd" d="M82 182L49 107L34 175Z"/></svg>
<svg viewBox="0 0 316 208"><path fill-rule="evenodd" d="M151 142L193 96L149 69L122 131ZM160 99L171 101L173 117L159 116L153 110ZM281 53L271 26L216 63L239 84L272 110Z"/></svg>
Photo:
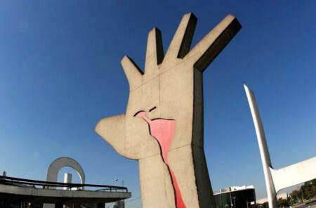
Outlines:
<svg viewBox="0 0 316 208"><path fill-rule="evenodd" d="M101 119L94 129L120 155L125 155L125 115L116 115Z"/></svg>

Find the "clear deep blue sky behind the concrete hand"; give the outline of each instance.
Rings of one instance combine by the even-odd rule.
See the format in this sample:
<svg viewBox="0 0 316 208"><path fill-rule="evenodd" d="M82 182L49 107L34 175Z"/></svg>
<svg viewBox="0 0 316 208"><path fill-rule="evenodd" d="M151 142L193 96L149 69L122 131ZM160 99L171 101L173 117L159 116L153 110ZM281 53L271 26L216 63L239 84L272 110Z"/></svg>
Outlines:
<svg viewBox="0 0 316 208"><path fill-rule="evenodd" d="M143 68L147 33L158 27L166 49L185 13L198 18L193 45L232 13L243 28L204 72L206 160L213 190L252 184L265 197L242 84L256 93L274 167L314 157L315 8L316 1L0 1L0 171L45 180L49 164L67 156L87 183L119 178L139 197L138 162L93 131L126 110L121 58Z"/></svg>

